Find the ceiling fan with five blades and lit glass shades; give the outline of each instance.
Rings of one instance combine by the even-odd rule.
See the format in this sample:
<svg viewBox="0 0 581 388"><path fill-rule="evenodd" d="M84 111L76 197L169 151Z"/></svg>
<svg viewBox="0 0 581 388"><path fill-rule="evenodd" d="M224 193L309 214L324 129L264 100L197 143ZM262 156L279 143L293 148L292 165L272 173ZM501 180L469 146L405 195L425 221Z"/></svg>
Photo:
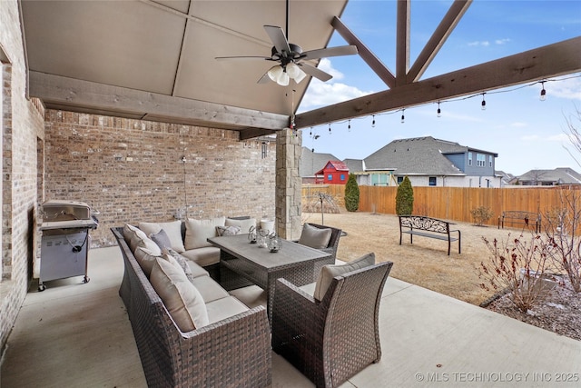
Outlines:
<svg viewBox="0 0 581 388"><path fill-rule="evenodd" d="M273 45L271 56L218 56L216 59L258 59L278 62L278 65L272 66L268 72L261 76L258 83L265 84L271 79L281 86L286 86L289 85L291 79L299 84L307 75L314 76L323 82L329 81L332 78L332 75L305 61L329 58L331 56L355 55L358 53L357 46L355 45L341 45L338 47L320 48L303 52L300 45L289 43L287 40L287 36L289 35L289 0L287 0L286 5L286 35L279 26L264 25L266 34L271 38Z"/></svg>

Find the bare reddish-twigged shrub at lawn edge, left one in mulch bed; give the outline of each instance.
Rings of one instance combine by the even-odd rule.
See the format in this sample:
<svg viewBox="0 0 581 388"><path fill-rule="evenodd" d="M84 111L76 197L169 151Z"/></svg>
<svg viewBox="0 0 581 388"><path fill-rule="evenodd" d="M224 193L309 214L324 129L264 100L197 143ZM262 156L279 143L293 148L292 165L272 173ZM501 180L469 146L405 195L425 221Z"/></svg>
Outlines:
<svg viewBox="0 0 581 388"><path fill-rule="evenodd" d="M487 264L480 263L478 277L483 280L480 287L487 291L507 291L510 300L526 313L533 305L542 302L555 286L556 279L546 273L550 243L539 234L531 234L530 241L521 234L499 243L490 243L483 237L490 251ZM549 261L550 263L550 261Z"/></svg>

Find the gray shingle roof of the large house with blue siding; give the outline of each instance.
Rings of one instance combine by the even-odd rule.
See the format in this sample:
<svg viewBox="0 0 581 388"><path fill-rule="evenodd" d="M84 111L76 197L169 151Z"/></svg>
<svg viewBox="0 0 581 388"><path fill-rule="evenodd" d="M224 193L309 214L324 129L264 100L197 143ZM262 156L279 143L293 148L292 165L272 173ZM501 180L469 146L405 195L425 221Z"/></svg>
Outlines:
<svg viewBox="0 0 581 388"><path fill-rule="evenodd" d="M460 145L431 136L399 139L380 148L365 158L367 171L395 170L395 174L463 174L444 154L465 154ZM492 153L489 153L492 154Z"/></svg>

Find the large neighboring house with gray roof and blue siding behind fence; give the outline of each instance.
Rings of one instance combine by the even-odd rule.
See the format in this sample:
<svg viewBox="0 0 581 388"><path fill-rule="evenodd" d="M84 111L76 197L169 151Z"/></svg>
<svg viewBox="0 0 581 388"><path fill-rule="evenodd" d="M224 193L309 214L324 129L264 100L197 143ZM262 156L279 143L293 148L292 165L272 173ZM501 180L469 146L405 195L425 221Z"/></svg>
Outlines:
<svg viewBox="0 0 581 388"><path fill-rule="evenodd" d="M362 161L358 184L396 185L405 176L415 186L500 187L496 153L431 136L399 139Z"/></svg>

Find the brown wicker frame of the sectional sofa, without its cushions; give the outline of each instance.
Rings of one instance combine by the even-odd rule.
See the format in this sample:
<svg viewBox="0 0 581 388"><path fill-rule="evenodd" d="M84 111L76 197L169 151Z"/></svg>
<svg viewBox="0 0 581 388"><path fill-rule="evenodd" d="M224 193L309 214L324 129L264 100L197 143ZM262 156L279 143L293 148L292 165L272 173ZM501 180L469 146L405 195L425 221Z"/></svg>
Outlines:
<svg viewBox="0 0 581 388"><path fill-rule="evenodd" d="M271 385L271 334L263 306L182 333L123 239L119 293L132 323L149 386L264 387Z"/></svg>

